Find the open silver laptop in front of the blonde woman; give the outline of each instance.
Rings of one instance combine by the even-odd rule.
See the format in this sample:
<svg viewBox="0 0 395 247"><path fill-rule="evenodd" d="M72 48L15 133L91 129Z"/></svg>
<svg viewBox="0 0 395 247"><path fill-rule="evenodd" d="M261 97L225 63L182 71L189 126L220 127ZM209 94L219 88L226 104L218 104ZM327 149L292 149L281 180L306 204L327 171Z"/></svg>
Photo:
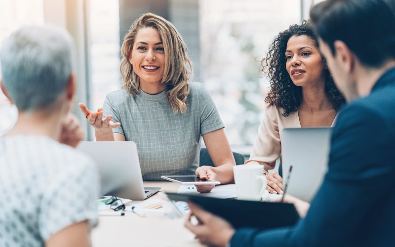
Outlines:
<svg viewBox="0 0 395 247"><path fill-rule="evenodd" d="M77 149L96 162L103 196L144 200L161 189L144 188L137 147L132 141L80 142Z"/></svg>

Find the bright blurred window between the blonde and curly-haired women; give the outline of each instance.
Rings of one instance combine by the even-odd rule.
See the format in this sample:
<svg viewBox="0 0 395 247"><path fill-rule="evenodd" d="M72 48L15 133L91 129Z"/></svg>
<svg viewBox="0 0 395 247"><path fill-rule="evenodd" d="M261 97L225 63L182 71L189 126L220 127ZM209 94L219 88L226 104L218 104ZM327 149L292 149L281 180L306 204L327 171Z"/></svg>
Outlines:
<svg viewBox="0 0 395 247"><path fill-rule="evenodd" d="M200 0L201 78L232 146L252 145L268 83L260 61L280 31L300 22L295 0Z"/></svg>

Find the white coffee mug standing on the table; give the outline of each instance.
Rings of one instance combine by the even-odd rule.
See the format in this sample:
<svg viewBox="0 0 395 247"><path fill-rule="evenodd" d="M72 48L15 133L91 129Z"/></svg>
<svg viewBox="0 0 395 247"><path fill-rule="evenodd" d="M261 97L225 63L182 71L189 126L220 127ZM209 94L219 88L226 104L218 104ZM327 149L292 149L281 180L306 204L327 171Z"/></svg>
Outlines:
<svg viewBox="0 0 395 247"><path fill-rule="evenodd" d="M263 165L233 166L238 200L260 201L268 184Z"/></svg>

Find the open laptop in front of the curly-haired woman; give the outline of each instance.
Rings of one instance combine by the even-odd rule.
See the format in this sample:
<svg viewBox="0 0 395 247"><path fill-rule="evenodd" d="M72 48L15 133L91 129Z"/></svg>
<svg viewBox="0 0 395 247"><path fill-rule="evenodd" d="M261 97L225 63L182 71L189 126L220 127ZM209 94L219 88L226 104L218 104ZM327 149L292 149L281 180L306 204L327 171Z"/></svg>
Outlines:
<svg viewBox="0 0 395 247"><path fill-rule="evenodd" d="M285 186L292 165L287 194L310 202L328 167L332 128L284 128L281 137L282 177Z"/></svg>

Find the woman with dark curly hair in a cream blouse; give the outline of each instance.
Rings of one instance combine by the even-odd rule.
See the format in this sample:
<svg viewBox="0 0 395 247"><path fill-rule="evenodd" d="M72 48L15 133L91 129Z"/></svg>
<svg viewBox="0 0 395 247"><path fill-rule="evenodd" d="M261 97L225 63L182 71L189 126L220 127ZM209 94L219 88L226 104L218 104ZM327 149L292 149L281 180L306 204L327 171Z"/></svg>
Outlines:
<svg viewBox="0 0 395 247"><path fill-rule="evenodd" d="M264 165L267 189L283 194L281 176L268 174L281 155L282 129L332 126L345 100L333 83L308 21L276 36L262 60L262 73L270 79L271 87L258 136L245 164Z"/></svg>

